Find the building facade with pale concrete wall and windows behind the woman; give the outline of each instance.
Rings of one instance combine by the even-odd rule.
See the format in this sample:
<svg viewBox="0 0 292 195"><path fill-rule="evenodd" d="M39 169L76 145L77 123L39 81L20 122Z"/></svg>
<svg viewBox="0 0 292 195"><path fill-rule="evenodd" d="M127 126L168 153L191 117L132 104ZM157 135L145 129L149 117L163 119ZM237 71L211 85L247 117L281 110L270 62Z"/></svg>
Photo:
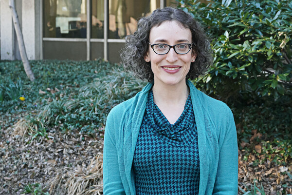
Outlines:
<svg viewBox="0 0 292 195"><path fill-rule="evenodd" d="M125 36L176 0L15 0L28 59L119 62ZM0 0L0 58L20 59L9 0Z"/></svg>

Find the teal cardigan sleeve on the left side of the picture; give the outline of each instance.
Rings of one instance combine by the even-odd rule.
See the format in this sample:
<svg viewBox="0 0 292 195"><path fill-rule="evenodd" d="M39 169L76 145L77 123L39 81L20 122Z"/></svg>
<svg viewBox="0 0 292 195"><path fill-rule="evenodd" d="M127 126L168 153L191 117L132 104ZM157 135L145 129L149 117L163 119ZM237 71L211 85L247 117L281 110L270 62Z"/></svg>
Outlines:
<svg viewBox="0 0 292 195"><path fill-rule="evenodd" d="M114 109L113 109L114 110ZM112 110L112 111L113 111ZM103 183L104 195L125 195L124 187L122 184L118 154L116 148L116 138L114 132L115 128L119 128L119 122L115 123L113 112L107 117L104 137L104 151L103 151Z"/></svg>

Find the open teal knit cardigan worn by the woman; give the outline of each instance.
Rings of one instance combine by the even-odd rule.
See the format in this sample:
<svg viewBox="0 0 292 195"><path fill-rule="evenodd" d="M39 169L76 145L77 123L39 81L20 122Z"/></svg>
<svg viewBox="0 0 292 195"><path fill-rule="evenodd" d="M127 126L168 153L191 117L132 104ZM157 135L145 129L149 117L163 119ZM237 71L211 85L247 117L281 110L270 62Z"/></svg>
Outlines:
<svg viewBox="0 0 292 195"><path fill-rule="evenodd" d="M115 106L104 137L104 195L135 195L132 162L146 109L148 83L134 98ZM199 195L237 195L237 133L229 107L203 94L187 80L198 129Z"/></svg>

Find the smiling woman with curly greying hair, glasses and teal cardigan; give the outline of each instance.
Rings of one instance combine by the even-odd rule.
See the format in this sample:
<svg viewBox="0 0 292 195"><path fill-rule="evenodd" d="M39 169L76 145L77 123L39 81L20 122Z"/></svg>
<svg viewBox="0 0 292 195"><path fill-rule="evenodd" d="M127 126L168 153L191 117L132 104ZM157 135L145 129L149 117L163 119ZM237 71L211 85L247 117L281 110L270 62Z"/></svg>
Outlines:
<svg viewBox="0 0 292 195"><path fill-rule="evenodd" d="M125 69L149 83L107 118L104 194L237 195L232 112L188 80L213 60L199 23L157 9L126 40Z"/></svg>

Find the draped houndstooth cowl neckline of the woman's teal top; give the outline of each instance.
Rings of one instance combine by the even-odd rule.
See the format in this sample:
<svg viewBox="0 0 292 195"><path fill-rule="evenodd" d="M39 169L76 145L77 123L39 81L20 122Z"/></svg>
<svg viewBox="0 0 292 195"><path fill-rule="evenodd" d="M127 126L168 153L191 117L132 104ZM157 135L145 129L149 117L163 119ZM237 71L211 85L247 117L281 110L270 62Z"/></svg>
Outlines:
<svg viewBox="0 0 292 195"><path fill-rule="evenodd" d="M186 146L197 139L197 128L190 94L184 105L183 113L174 124L170 124L159 107L154 103L153 92L149 91L146 116L154 131L170 145Z"/></svg>

